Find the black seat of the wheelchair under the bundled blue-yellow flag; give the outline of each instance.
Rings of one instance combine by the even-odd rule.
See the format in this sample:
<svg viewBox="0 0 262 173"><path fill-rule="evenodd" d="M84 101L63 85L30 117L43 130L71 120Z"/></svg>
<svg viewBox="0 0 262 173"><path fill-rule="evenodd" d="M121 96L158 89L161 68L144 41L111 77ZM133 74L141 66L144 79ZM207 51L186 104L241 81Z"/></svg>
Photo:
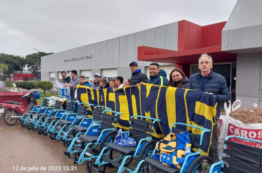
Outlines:
<svg viewBox="0 0 262 173"><path fill-rule="evenodd" d="M162 172L179 173L181 170L181 169L177 169L171 166L162 165L162 163L159 160L153 157L146 157L145 161L148 165L153 166L155 169L158 169Z"/></svg>

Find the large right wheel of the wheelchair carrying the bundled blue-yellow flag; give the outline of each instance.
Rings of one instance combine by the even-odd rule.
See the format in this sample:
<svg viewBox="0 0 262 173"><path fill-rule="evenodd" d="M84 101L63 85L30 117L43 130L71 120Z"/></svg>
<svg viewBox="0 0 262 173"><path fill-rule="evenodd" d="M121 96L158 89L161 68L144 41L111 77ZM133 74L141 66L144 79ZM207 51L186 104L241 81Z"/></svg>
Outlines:
<svg viewBox="0 0 262 173"><path fill-rule="evenodd" d="M207 172L212 163L213 160L210 157L205 155L199 156L191 163L187 172Z"/></svg>

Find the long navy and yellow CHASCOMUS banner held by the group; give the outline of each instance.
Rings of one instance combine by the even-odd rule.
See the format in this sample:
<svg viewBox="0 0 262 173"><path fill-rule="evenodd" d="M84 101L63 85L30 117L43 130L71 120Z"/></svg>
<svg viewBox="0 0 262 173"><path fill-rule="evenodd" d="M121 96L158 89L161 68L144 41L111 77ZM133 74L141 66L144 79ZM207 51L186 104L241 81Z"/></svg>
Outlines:
<svg viewBox="0 0 262 173"><path fill-rule="evenodd" d="M170 133L170 126L174 122L191 124L194 126L213 128L216 115L216 99L205 92L190 89L143 84L93 90L86 86L77 85L77 98L81 102L97 106L110 107L113 111L123 115L117 117L116 126L128 129L132 115L158 118L153 136L164 138ZM201 134L202 130L176 126L177 129ZM208 152L211 143L211 132L203 137L202 150Z"/></svg>

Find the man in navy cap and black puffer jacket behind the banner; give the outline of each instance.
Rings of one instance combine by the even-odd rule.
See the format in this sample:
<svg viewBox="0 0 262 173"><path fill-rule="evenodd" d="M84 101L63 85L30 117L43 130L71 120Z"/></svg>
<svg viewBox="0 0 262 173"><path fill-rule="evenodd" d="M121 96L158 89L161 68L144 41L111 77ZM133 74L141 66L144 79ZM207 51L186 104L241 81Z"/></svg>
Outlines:
<svg viewBox="0 0 262 173"><path fill-rule="evenodd" d="M138 69L138 64L133 61L129 64L129 67L131 69L132 72L132 76L130 78L130 85L137 85L140 82L145 82L147 83L148 78L146 76L146 74L141 73L141 69Z"/></svg>

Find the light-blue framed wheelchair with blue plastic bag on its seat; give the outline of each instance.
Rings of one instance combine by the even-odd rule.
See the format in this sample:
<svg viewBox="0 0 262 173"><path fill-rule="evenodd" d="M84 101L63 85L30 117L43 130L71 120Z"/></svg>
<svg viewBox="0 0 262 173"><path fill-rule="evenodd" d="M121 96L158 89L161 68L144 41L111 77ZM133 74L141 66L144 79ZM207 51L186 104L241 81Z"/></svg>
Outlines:
<svg viewBox="0 0 262 173"><path fill-rule="evenodd" d="M129 131L122 133L127 133L129 137L133 138L137 146L119 146L116 145L116 141L107 143L106 147L100 148L102 149L99 150L100 155L92 167L98 172L105 172L107 166L118 168L118 173L123 171L133 172L130 168L127 168L132 160L140 161L148 157L155 148L155 144L158 141L152 140L152 135L154 125L159 121L159 119L150 117L132 116L130 118Z"/></svg>

